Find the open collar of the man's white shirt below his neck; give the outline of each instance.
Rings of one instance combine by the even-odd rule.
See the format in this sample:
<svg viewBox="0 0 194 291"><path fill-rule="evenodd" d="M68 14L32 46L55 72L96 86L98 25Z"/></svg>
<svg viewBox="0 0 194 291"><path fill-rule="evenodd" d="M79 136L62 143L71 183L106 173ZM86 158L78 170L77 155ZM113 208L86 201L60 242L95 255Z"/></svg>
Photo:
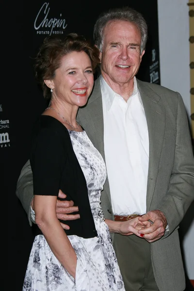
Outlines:
<svg viewBox="0 0 194 291"><path fill-rule="evenodd" d="M100 77L100 86L101 86L101 93L102 93L103 101L106 102L107 109L109 111L111 109L112 104L113 104L114 97L115 96L117 96L119 98L122 98L122 97L113 91L113 89L107 84L107 82L104 80L104 78L102 76ZM130 97L134 96L135 94L138 94L140 103L143 106L142 99L140 97L140 93L139 93L139 90L137 88L137 81L136 81L136 78L134 77L133 78L133 92L132 92Z"/></svg>

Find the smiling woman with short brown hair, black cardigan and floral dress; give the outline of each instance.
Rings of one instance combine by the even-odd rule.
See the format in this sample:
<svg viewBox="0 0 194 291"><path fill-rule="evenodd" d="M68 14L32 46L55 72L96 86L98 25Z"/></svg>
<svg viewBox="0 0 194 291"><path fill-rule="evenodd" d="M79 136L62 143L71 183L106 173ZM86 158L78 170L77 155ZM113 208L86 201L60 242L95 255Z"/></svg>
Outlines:
<svg viewBox="0 0 194 291"><path fill-rule="evenodd" d="M37 227L23 291L125 290L109 227L140 236L138 229L146 225L140 226L138 218L104 219L100 192L105 163L76 121L98 63L98 50L75 33L46 38L36 57L36 79L50 103L33 129L30 162ZM59 189L79 206L80 219L65 222L69 230L56 216Z"/></svg>

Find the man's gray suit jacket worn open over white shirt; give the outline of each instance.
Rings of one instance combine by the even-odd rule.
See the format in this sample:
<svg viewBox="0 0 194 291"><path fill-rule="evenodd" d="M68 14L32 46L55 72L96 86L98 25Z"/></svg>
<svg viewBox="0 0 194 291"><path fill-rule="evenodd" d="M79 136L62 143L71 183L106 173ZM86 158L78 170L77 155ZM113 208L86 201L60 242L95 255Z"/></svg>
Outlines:
<svg viewBox="0 0 194 291"><path fill-rule="evenodd" d="M146 210L161 210L169 226L169 231L162 239L151 243L154 275L160 291L183 291L185 277L178 225L194 200L194 155L187 114L179 93L139 80L137 86L144 105L149 134ZM95 81L87 105L79 109L77 117L105 161L99 78ZM33 185L29 161L21 171L16 195L32 225L30 203ZM108 178L102 191L101 206L105 217L113 219Z"/></svg>

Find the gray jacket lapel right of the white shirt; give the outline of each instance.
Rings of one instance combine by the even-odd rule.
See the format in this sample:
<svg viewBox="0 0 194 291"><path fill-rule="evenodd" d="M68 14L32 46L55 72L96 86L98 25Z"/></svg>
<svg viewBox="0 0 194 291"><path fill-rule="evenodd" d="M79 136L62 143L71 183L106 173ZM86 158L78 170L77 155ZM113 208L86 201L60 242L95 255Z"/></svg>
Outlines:
<svg viewBox="0 0 194 291"><path fill-rule="evenodd" d="M137 80L137 86L144 105L149 135L149 167L146 194L146 211L148 211L159 171L165 131L165 109L160 103L161 97L148 86L148 83Z"/></svg>

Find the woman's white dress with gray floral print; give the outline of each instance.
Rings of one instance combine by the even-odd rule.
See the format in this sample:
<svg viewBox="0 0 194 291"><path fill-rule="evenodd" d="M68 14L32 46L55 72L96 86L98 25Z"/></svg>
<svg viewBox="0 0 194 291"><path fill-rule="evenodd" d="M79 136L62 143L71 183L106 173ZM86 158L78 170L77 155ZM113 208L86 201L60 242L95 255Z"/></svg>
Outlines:
<svg viewBox="0 0 194 291"><path fill-rule="evenodd" d="M74 279L53 255L44 236L36 236L23 291L125 291L109 228L100 207L100 194L106 179L105 163L85 131L69 130L69 134L87 182L97 237L68 236L77 255Z"/></svg>

